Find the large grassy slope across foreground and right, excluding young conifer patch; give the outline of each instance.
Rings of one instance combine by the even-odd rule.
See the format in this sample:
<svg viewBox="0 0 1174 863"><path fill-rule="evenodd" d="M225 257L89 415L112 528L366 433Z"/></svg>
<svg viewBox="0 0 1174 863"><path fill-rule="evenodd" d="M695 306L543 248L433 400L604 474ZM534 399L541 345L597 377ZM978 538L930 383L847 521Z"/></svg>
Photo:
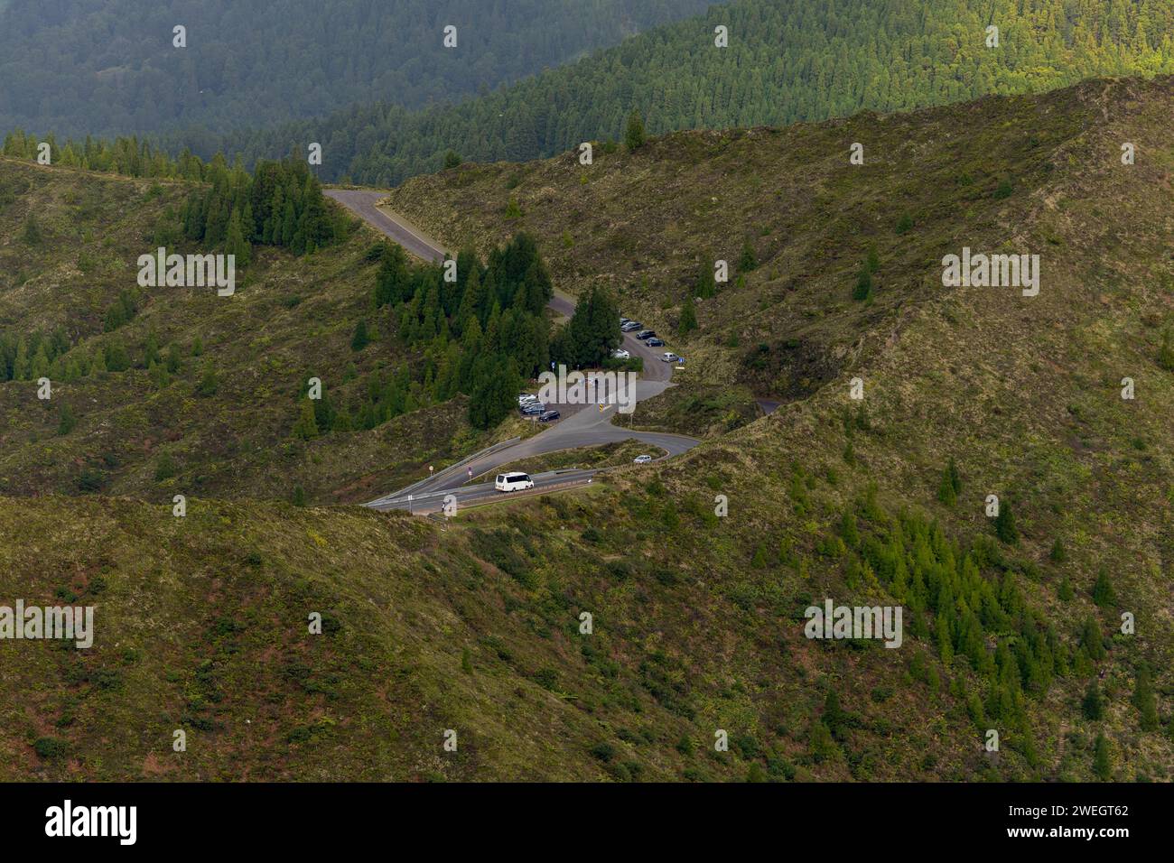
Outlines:
<svg viewBox="0 0 1174 863"><path fill-rule="evenodd" d="M654 470L620 468L581 495L481 508L447 531L397 515L271 504L196 501L185 522L162 506L109 499L0 504L0 547L11 558L0 567L8 581L0 596L48 599L66 582L76 592L102 567L107 582L92 653L0 642L0 650L56 663L5 662L0 702L12 707L0 739L14 756L6 763L15 775L104 777L139 776L162 762L173 776L1087 781L1092 739L1104 730L1115 777L1169 778L1174 746L1165 731L1139 730L1129 699L1136 660L1145 658L1155 668L1162 720L1170 716L1174 379L1154 356L1172 311L1165 249L1172 86L1089 82L1037 99L848 121L844 140L900 142L917 166L898 166L883 146L873 148L882 164L859 180L828 161L825 175L810 180L830 197L812 204L802 231L785 242L780 231L782 248L760 255L765 264L744 289L706 306L697 341L699 349L708 345L711 368L734 377L742 366L738 349L723 346L729 330L754 328L768 342L799 332L838 359L834 373L771 417ZM711 157L743 147L744 161L757 142L761 159L776 164L776 174L763 176L784 176L778 160L803 151L804 140L839 141L844 128L729 134ZM673 147L676 139L684 143ZM668 176L686 166L652 162L655 148L670 161L704 140L666 139L649 153L615 156L607 169L630 163ZM1138 144L1131 168L1118 161L1122 140ZM689 159L695 174L722 170ZM514 170L553 171L556 162L472 168L459 188L460 171L417 181L397 193L397 207L446 243L466 236L488 243L505 224L494 209L504 186L493 183ZM596 164L605 167L606 160ZM945 182L964 174L972 182ZM1014 191L999 200L991 193L1004 175ZM667 283L696 255L679 235L710 230L704 214L688 209L704 200L688 183L667 188L663 198L648 200L655 184L632 195L647 214L637 232L620 218L630 202L593 200L598 188L580 187L578 170L564 186L555 176L535 188L524 181L515 191L528 196L526 221L564 284L574 286L578 255L588 255L582 268L626 272L630 257L607 251L613 236L660 255L648 258L660 261L650 284ZM613 183L619 188L619 178ZM799 207L771 208L778 181L757 183L757 196L756 183L731 175L726 184L738 203L713 225L728 225L729 242L741 244L747 224L790 220ZM446 207L483 221L461 222L458 234L457 216L410 205L441 193ZM542 223L541 202L571 207L573 195L583 196L574 205L592 240L560 256L564 225L553 217ZM898 237L891 225L904 209L917 225ZM837 237L858 248L838 249ZM845 299L845 274L870 241L882 269L875 303L862 306ZM942 254L1004 243L1044 257L1040 296L939 286ZM794 305L783 299L758 310L776 283L794 283ZM663 326L655 299L652 288L636 290L626 305L643 304L637 311ZM695 366L699 350L689 356ZM1133 403L1118 397L1126 375L1138 382ZM853 433L855 465L842 457L852 376L865 380L869 417L868 430ZM949 456L963 476L954 507L935 499ZM1077 625L1089 614L1106 634L1121 611L1136 614L1138 635L1111 639L1098 667L1105 720L1080 719L1087 679L1058 679L1028 700L1034 763L1012 735L991 760L980 749L981 728L951 692L973 675L964 663L943 666L932 641L906 633L903 649L885 650L803 638L809 601L892 601L879 585L849 587L843 561L816 553L870 483L884 511L923 510L958 539L990 532L985 494L1012 500L1023 538L1006 553L1030 606L1066 643L1075 643ZM724 519L711 514L717 493L729 499ZM862 521L862 532L878 532L882 521ZM22 545L18 535L52 541ZM1065 564L1047 560L1055 537L1068 548ZM801 565L778 562L774 550L784 541ZM1120 601L1098 611L1089 588L1099 566L1112 573ZM168 573L168 589L142 589ZM1066 602L1057 599L1065 575L1077 589ZM311 642L331 648L322 650L328 655L303 645L297 661L305 668L286 668L305 639L311 602L331 609L342 629ZM585 609L595 615L589 638L578 634ZM109 629L102 620L113 621ZM142 656L122 655L128 643ZM463 647L472 674L461 670ZM932 673L915 670L915 659ZM816 751L810 736L829 689L850 716L830 755ZM69 710L85 721L56 728ZM239 730L243 719L264 729L252 731L263 746L242 744L256 740ZM189 753L173 756L169 734L181 726L195 729ZM471 750L444 755L444 728L470 729L461 740L472 739ZM717 728L730 731L729 753L713 751ZM38 760L29 744L46 735L65 741L65 757Z"/></svg>

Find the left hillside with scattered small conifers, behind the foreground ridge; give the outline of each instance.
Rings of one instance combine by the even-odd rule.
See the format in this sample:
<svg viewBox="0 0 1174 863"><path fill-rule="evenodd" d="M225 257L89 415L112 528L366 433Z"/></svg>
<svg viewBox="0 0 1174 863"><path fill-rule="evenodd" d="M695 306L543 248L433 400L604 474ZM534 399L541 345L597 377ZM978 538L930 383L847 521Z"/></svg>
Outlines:
<svg viewBox="0 0 1174 863"><path fill-rule="evenodd" d="M2 493L362 501L478 447L464 397L436 399L376 313L384 244L321 195L345 238L309 255L258 242L232 296L137 285L160 245L228 248L231 197L0 159ZM220 213L218 237L185 236L201 211Z"/></svg>

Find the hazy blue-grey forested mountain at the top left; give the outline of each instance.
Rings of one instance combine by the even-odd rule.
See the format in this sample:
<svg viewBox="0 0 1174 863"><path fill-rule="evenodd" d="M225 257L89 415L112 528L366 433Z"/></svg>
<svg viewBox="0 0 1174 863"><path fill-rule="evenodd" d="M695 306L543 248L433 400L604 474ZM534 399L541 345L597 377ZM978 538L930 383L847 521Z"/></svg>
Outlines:
<svg viewBox="0 0 1174 863"><path fill-rule="evenodd" d="M573 60L709 0L0 0L0 130L259 126L413 108ZM458 47L441 43L446 25ZM173 28L187 28L187 47Z"/></svg>

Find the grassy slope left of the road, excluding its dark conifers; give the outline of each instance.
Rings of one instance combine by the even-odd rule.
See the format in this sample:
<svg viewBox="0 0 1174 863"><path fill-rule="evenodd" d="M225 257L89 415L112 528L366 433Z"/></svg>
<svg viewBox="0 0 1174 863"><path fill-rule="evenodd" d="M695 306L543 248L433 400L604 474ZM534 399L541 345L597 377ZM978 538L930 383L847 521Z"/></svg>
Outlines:
<svg viewBox="0 0 1174 863"><path fill-rule="evenodd" d="M457 400L393 419L385 426L302 443L290 436L297 395L311 375L338 404L362 397L366 376L405 362L390 328L370 309L375 242L365 228L343 247L308 258L261 250L232 297L211 289L146 289L139 315L114 333L102 316L119 291L133 288L139 255L155 248L155 225L167 222L188 193L184 183L128 180L0 160L0 326L49 331L61 324L75 350L120 339L142 358L148 332L162 352L176 344L183 368L158 389L146 369L55 382L49 402L35 382L0 385L0 492L76 493L83 470L103 478L102 491L155 500L184 492L217 497L288 497L302 484L311 500L362 501L416 478L430 461L444 464L479 443ZM35 214L43 238L23 242ZM196 251L181 247L183 251ZM362 353L350 348L360 317L377 337ZM203 353L193 356L196 338ZM358 377L345 379L353 363ZM210 365L214 396L196 386ZM76 429L58 436L69 404ZM161 456L176 477L155 480Z"/></svg>

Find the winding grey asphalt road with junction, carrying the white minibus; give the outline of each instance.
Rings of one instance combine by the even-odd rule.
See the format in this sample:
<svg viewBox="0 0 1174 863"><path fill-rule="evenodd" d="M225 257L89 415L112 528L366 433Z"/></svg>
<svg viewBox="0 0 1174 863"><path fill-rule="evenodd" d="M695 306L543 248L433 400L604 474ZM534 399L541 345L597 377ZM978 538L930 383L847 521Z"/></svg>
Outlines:
<svg viewBox="0 0 1174 863"><path fill-rule="evenodd" d="M403 245L412 255L425 261L441 261L444 248L426 234L410 224L406 220L379 209L377 203L386 197L386 193L366 189L326 189L325 194L349 210L362 217L376 230ZM574 312L574 299L565 294L555 292L548 303L558 315L571 317ZM623 346L633 356L642 357L645 371L636 382L636 403L653 396L659 396L672 386L673 363L663 363L660 351L647 346L632 333L625 333ZM697 440L684 434L662 432L626 431L621 426L625 418L621 414L619 425L613 425L618 406L598 404L571 405L558 404L562 419L547 426L541 433L510 446L491 447L466 459L458 465L441 470L434 477L416 483L407 488L372 500L366 506L376 510L410 510L417 513L437 512L445 505L445 499L452 494L458 507L486 500L500 499L492 483L468 484L470 477L479 477L505 464L533 458L560 450L574 450L582 446L600 446L636 439L650 447L660 447L672 458L697 445ZM629 414L630 416L630 414ZM592 481L596 470L562 470L533 474L534 492L548 491L555 487L586 485Z"/></svg>

